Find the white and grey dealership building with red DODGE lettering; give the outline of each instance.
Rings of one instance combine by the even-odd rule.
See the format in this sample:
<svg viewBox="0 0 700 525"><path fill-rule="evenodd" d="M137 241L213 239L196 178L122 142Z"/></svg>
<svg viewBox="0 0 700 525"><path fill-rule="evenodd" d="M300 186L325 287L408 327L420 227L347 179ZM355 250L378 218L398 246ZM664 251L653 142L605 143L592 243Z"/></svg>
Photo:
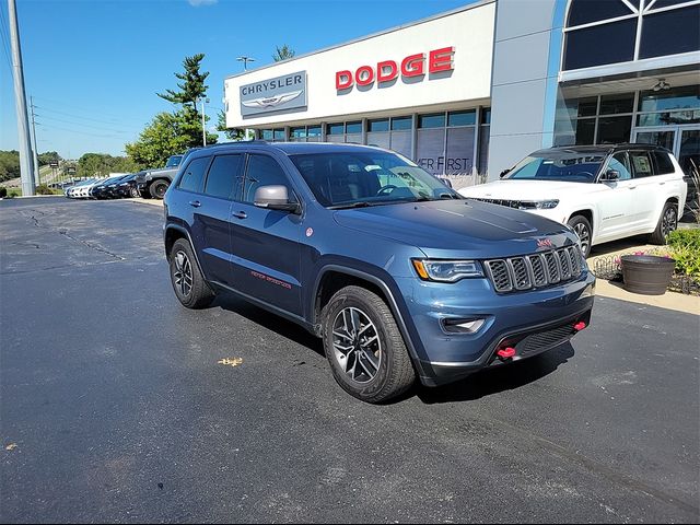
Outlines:
<svg viewBox="0 0 700 525"><path fill-rule="evenodd" d="M458 185L551 145L700 164L700 0L485 0L224 81L226 126L393 149Z"/></svg>

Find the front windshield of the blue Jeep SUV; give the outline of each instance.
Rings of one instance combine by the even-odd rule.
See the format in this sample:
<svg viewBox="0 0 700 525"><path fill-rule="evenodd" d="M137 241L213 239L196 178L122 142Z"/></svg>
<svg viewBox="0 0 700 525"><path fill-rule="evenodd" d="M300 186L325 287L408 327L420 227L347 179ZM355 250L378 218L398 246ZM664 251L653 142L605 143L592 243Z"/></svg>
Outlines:
<svg viewBox="0 0 700 525"><path fill-rule="evenodd" d="M291 159L318 202L326 207L460 198L428 172L395 153L313 153Z"/></svg>

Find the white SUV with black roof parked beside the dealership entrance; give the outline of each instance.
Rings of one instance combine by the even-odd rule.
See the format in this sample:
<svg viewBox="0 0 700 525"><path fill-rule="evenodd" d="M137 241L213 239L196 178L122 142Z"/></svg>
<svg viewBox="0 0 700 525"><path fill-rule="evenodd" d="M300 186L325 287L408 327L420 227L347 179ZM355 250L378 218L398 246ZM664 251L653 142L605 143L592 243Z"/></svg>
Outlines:
<svg viewBox="0 0 700 525"><path fill-rule="evenodd" d="M539 150L501 177L458 191L570 225L586 256L595 244L643 233L664 244L688 191L674 155L649 144Z"/></svg>

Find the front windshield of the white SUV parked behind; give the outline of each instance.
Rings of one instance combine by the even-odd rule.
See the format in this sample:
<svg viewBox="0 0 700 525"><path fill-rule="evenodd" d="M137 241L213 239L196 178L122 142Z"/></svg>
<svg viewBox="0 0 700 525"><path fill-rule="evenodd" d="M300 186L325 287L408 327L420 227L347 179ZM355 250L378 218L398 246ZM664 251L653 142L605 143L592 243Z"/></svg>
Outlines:
<svg viewBox="0 0 700 525"><path fill-rule="evenodd" d="M546 156L527 156L511 170L505 178L593 183L605 156L603 152L557 152Z"/></svg>

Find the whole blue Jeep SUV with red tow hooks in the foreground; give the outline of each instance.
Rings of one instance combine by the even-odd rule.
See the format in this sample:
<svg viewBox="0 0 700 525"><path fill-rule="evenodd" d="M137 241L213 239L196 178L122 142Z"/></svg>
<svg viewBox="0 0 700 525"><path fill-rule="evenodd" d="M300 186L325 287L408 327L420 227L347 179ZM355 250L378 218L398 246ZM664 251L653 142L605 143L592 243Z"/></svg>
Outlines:
<svg viewBox="0 0 700 525"><path fill-rule="evenodd" d="M369 402L568 341L595 291L568 226L363 145L197 150L165 195L164 241L183 305L226 290L299 323Z"/></svg>

